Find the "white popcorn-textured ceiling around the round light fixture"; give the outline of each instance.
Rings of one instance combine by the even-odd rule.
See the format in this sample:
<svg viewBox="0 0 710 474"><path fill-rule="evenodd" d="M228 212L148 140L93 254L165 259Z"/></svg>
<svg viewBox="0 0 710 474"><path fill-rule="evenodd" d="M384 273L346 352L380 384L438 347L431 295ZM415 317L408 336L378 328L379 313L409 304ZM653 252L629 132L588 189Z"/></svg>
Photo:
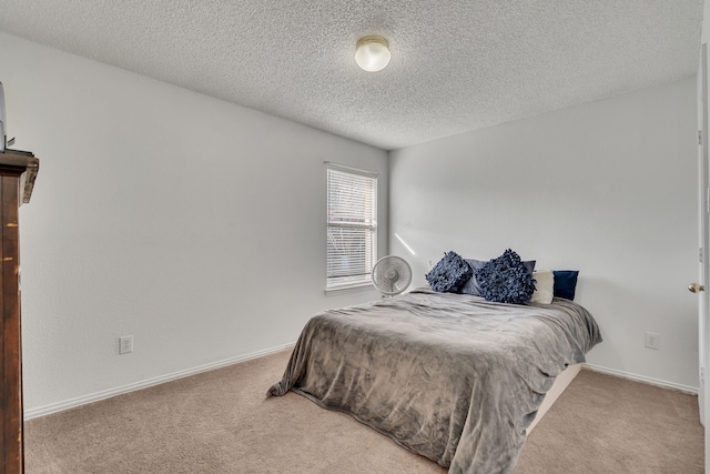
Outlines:
<svg viewBox="0 0 710 474"><path fill-rule="evenodd" d="M392 150L697 72L703 0L0 0L0 31ZM392 62L357 68L356 41Z"/></svg>

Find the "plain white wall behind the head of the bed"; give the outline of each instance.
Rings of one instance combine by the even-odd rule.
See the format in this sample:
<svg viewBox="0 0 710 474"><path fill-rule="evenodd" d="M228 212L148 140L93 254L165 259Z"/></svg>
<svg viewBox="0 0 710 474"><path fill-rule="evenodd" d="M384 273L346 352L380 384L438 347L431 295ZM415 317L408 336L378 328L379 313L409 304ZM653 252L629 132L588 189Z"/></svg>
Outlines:
<svg viewBox="0 0 710 474"><path fill-rule="evenodd" d="M605 339L588 362L697 387L696 127L691 78L398 150L389 229L418 283L448 250L579 270Z"/></svg>

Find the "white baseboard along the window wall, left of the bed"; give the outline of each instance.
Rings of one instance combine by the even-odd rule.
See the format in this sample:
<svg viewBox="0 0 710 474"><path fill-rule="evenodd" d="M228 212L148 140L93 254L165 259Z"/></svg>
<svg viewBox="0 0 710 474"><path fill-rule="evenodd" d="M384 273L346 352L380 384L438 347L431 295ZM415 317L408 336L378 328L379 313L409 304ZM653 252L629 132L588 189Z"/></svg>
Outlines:
<svg viewBox="0 0 710 474"><path fill-rule="evenodd" d="M148 389L149 386L160 385L161 383L172 382L179 379L184 379L190 375L195 375L202 372L213 371L215 369L225 367L227 365L237 364L240 362L250 361L252 359L263 357L264 355L275 354L276 352L292 349L295 343L278 345L276 347L265 349L263 351L252 352L250 354L239 355L236 357L225 359L210 364L200 365L197 367L187 369L180 372L173 372L172 374L161 375L153 379L148 379L141 382L131 383L128 385L118 386L115 389L104 390L95 392L90 395L78 396L75 399L67 400L59 403L52 403L49 405L40 406L32 410L24 411L24 420L32 420L39 416L49 415L52 413L63 412L64 410L74 409L88 403L99 402L101 400L111 399L112 396L121 395L129 392L135 392L136 390Z"/></svg>

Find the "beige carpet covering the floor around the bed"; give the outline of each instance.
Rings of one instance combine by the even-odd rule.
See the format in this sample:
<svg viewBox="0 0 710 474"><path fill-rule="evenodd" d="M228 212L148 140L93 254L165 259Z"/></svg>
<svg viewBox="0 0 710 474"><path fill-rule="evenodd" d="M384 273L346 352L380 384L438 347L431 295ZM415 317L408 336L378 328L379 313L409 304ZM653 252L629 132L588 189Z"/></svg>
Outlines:
<svg viewBox="0 0 710 474"><path fill-rule="evenodd" d="M26 424L28 474L445 473L348 415L265 399L278 353ZM697 397L582 371L515 474L702 473Z"/></svg>

